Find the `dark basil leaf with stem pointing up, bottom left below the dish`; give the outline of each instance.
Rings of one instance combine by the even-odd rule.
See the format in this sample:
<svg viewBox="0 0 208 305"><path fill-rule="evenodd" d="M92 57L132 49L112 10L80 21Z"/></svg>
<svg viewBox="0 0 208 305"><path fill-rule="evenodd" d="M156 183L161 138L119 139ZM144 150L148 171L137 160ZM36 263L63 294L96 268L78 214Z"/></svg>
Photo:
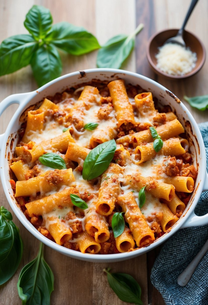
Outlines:
<svg viewBox="0 0 208 305"><path fill-rule="evenodd" d="M17 290L22 304L50 305L50 295L54 290L54 276L43 257L41 243L38 256L23 267L17 282Z"/></svg>

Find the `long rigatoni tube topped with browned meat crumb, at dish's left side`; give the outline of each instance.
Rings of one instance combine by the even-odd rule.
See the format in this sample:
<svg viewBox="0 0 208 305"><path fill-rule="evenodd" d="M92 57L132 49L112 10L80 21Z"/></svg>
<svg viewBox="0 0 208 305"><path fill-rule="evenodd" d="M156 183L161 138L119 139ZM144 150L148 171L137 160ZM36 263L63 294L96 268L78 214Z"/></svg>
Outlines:
<svg viewBox="0 0 208 305"><path fill-rule="evenodd" d="M36 196L38 192L46 193L59 188L61 185L70 185L74 180L71 168L67 170L48 170L45 175L25 181L17 181L15 197Z"/></svg>

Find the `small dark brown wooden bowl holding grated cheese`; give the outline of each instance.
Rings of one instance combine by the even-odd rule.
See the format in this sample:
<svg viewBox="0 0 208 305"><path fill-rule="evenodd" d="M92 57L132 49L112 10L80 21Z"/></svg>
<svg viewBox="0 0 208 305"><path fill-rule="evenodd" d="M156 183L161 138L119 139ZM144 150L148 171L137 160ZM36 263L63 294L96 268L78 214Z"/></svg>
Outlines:
<svg viewBox="0 0 208 305"><path fill-rule="evenodd" d="M156 66L157 59L155 58L155 55L158 53L158 48L161 47L168 38L174 37L177 33L178 33L178 29L171 29L171 30L163 30L161 32L154 34L148 41L147 51L146 51L147 59L149 61L152 70L157 74L163 75L171 79L186 78L194 75L202 68L206 59L206 50L203 45L203 42L194 34L184 30L183 38L185 44L187 47L190 48L192 52L195 52L197 56L197 62L193 70L185 75L169 75L158 69Z"/></svg>

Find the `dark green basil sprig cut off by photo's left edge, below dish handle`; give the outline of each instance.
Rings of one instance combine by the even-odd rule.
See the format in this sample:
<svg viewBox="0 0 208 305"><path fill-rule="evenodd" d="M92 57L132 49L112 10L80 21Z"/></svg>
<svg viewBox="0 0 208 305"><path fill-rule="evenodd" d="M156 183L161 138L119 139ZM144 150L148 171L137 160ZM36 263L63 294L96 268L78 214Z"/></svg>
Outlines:
<svg viewBox="0 0 208 305"><path fill-rule="evenodd" d="M12 214L0 208L0 285L13 276L20 264L23 242L19 229L12 221Z"/></svg>

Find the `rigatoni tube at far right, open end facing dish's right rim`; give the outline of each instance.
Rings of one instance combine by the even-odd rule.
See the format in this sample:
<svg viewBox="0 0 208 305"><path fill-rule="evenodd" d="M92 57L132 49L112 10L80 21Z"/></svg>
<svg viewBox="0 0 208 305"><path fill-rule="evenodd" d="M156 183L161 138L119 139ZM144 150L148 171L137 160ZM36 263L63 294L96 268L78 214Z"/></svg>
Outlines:
<svg viewBox="0 0 208 305"><path fill-rule="evenodd" d="M163 180L166 183L172 184L177 192L191 193L194 190L194 179L192 177L175 176L167 177Z"/></svg>

